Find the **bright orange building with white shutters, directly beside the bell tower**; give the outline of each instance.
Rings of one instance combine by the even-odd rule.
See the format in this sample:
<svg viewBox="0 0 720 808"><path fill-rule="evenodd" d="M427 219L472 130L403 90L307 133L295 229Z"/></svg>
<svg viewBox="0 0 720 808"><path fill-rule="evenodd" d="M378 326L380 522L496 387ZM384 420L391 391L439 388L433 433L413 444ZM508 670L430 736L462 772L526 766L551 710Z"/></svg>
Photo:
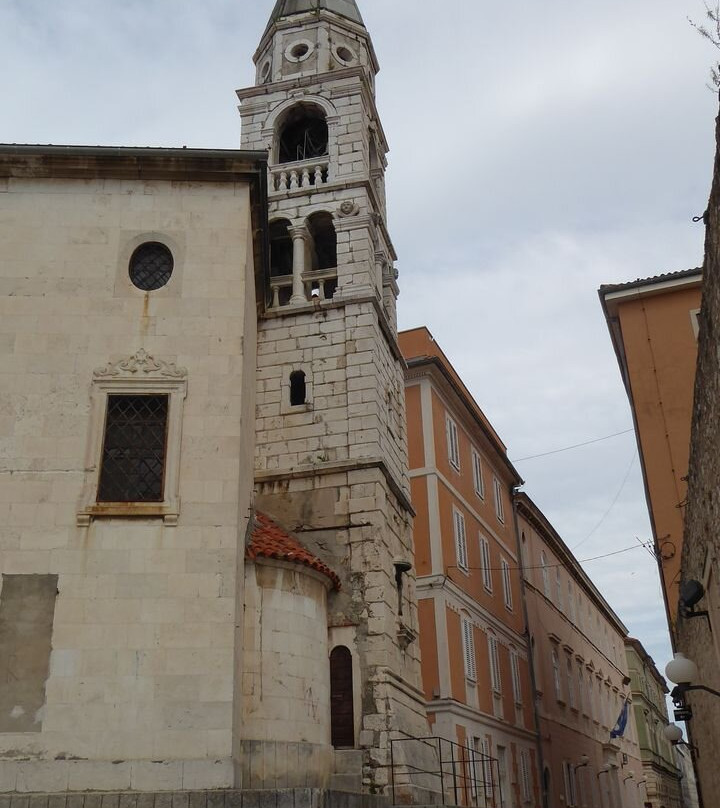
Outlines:
<svg viewBox="0 0 720 808"><path fill-rule="evenodd" d="M426 328L402 332L420 650L436 736L482 759L463 805L540 806L505 446ZM443 751L443 758L450 751ZM465 781L464 781L465 782ZM465 783L466 784L466 783Z"/></svg>

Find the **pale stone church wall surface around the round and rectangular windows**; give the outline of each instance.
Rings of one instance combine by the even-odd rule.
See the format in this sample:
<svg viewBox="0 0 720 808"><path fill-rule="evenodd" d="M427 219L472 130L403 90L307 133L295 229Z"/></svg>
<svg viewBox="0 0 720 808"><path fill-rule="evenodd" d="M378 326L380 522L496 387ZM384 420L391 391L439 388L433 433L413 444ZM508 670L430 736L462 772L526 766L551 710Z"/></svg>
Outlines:
<svg viewBox="0 0 720 808"><path fill-rule="evenodd" d="M41 723L0 734L0 792L232 785L253 451L248 188L11 179L2 190L0 571L57 573L59 594ZM138 240L174 253L157 292L128 281ZM97 464L93 371L139 349L187 369L178 524L78 526Z"/></svg>

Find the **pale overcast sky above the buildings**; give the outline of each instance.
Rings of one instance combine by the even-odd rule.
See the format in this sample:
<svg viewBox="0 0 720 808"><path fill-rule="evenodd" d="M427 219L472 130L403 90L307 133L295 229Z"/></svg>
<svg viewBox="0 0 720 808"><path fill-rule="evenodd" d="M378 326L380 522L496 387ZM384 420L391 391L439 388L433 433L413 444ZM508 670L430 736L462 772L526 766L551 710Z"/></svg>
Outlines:
<svg viewBox="0 0 720 808"><path fill-rule="evenodd" d="M0 0L0 140L237 148L234 90L273 5ZM401 327L430 328L511 458L629 429L597 288L702 262L717 102L715 52L686 19L701 0L359 5ZM517 466L580 559L650 538L633 434ZM662 669L654 560L586 569Z"/></svg>

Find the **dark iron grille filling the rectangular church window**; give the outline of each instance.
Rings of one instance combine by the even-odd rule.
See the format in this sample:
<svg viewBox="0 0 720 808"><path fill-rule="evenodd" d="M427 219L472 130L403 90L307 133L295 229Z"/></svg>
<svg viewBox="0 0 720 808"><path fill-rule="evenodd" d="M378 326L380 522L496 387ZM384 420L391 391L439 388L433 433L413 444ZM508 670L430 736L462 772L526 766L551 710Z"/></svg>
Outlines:
<svg viewBox="0 0 720 808"><path fill-rule="evenodd" d="M168 396L108 396L98 502L161 502Z"/></svg>

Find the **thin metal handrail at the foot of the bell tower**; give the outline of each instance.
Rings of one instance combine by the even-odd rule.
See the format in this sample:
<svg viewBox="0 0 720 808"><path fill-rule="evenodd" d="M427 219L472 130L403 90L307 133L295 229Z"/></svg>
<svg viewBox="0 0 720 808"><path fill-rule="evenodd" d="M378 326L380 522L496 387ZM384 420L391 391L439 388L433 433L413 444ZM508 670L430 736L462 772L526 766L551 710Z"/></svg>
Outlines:
<svg viewBox="0 0 720 808"><path fill-rule="evenodd" d="M406 760L396 762L399 744L423 744L437 754L437 769L427 769ZM448 769L449 766L449 769ZM504 795L499 782L499 764L496 758L483 755L477 749L463 746L447 738L396 738L390 741L390 771L393 803L397 801L398 782L404 773L412 785L413 775L437 778L440 785L440 805L465 805L477 808L504 808ZM481 775L481 776L480 776ZM446 788L446 779L449 784ZM448 793L453 802L447 802Z"/></svg>

